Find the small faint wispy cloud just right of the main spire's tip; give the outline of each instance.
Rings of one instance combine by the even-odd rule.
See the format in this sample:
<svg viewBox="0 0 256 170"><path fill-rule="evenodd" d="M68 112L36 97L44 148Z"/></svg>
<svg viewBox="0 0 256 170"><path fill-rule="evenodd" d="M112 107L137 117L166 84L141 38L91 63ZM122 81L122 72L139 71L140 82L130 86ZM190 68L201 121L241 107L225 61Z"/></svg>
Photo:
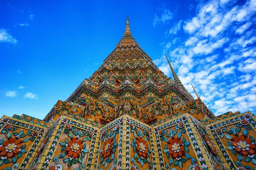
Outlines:
<svg viewBox="0 0 256 170"><path fill-rule="evenodd" d="M169 9L161 8L160 10L162 11L161 14L159 16L155 14L154 16L154 21L153 21L154 27L156 27L161 22L168 23L174 17L174 13L172 13Z"/></svg>

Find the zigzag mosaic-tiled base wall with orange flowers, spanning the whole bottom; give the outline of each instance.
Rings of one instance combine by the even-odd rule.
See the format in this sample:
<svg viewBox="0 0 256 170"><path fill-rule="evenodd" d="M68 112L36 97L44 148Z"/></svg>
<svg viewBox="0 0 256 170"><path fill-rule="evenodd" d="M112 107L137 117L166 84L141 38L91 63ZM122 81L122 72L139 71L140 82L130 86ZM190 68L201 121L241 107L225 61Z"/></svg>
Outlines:
<svg viewBox="0 0 256 170"><path fill-rule="evenodd" d="M0 169L254 170L255 121L248 112L207 125L183 114L149 126L125 114L98 128L61 116L47 128L4 116Z"/></svg>

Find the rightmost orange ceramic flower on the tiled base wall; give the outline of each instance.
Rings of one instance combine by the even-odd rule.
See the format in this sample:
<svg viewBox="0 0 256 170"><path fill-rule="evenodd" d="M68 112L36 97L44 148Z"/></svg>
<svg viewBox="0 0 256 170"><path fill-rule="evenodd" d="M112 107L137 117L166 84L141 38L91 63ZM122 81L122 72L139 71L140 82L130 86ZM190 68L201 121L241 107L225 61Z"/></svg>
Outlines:
<svg viewBox="0 0 256 170"><path fill-rule="evenodd" d="M243 155L254 154L255 144L251 143L252 140L250 138L244 138L244 136L240 135L238 137L233 137L232 145L235 147L237 152L241 152Z"/></svg>

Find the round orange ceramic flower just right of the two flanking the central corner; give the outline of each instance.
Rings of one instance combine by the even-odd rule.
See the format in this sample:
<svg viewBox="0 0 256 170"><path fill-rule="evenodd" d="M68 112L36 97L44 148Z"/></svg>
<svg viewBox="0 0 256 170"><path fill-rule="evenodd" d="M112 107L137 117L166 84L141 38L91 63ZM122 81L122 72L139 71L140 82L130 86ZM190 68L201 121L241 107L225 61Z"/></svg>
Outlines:
<svg viewBox="0 0 256 170"><path fill-rule="evenodd" d="M184 147L182 146L182 141L178 138L170 139L167 147L169 149L169 153L174 157L182 156L182 152L184 151Z"/></svg>

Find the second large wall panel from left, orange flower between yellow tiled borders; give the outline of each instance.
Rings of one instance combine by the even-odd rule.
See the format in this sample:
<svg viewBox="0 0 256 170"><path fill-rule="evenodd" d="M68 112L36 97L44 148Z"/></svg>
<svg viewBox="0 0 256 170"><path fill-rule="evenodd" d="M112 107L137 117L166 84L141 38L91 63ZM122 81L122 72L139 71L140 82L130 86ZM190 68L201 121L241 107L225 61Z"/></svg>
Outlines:
<svg viewBox="0 0 256 170"><path fill-rule="evenodd" d="M47 132L41 152L30 165L31 170L80 170L93 168L99 128L61 116Z"/></svg>

